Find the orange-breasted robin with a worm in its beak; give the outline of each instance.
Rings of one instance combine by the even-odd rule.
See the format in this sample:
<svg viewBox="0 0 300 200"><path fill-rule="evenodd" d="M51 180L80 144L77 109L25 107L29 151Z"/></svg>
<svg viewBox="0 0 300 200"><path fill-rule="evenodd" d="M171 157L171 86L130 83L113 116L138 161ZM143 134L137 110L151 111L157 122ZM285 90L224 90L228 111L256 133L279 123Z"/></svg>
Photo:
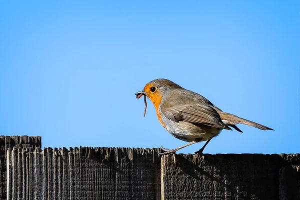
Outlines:
<svg viewBox="0 0 300 200"><path fill-rule="evenodd" d="M160 154L174 154L183 147L207 140L203 147L195 152L202 154L210 139L217 136L222 129L232 130L230 128L232 127L242 132L235 125L237 123L262 130L273 130L265 125L223 112L205 97L184 89L168 79L154 79L135 95L136 98L144 95L144 100L147 96L152 101L162 126L174 137L188 141L188 143L171 150L161 146L164 152Z"/></svg>

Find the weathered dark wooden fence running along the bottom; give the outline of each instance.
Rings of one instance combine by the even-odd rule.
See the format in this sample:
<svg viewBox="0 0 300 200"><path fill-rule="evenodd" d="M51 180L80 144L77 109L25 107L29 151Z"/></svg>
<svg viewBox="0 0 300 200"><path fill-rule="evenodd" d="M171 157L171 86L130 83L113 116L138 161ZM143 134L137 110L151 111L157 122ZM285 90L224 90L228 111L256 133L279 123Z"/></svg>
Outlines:
<svg viewBox="0 0 300 200"><path fill-rule="evenodd" d="M300 199L300 154L43 148L0 136L1 199Z"/></svg>

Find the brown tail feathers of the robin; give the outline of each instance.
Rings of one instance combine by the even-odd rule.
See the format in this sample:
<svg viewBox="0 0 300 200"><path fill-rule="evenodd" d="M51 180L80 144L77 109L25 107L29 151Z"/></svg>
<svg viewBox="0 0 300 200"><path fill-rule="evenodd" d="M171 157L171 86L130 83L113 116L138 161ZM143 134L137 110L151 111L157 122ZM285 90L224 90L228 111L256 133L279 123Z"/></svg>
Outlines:
<svg viewBox="0 0 300 200"><path fill-rule="evenodd" d="M267 127L265 125L261 125L259 123L256 123L256 122L253 122L253 121L250 121L250 120L238 117L238 116L236 116L234 114L230 114L230 113L227 113L227 112L221 112L219 114L220 114L220 117L221 117L223 123L225 123L226 125L231 126L233 128L236 127L235 124L242 123L242 124L246 124L246 125L250 125L250 126L262 129L262 130L274 130L274 129L269 128L269 127ZM236 130L241 132L241 130L239 130L238 128Z"/></svg>

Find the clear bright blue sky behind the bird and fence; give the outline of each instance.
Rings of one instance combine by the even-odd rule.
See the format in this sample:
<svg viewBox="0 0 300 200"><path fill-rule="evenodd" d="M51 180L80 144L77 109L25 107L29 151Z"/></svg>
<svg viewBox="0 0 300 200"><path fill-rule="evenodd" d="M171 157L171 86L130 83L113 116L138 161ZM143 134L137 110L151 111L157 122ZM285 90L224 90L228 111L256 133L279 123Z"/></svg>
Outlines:
<svg viewBox="0 0 300 200"><path fill-rule="evenodd" d="M300 150L300 10L280 1L9 1L0 6L0 134L42 146L186 142L134 93L170 79L267 125L223 130L204 153ZM204 142L183 148L192 153Z"/></svg>

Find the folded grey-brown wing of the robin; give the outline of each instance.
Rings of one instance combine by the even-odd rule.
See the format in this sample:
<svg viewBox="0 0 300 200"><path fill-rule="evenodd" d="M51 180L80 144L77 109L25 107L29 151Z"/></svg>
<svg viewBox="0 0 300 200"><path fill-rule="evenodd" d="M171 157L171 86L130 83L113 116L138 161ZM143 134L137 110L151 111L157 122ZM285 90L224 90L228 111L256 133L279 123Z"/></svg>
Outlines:
<svg viewBox="0 0 300 200"><path fill-rule="evenodd" d="M217 111L209 105L163 106L162 104L161 108L161 112L174 121L186 121L193 124L209 125L231 130L231 128L222 122Z"/></svg>

